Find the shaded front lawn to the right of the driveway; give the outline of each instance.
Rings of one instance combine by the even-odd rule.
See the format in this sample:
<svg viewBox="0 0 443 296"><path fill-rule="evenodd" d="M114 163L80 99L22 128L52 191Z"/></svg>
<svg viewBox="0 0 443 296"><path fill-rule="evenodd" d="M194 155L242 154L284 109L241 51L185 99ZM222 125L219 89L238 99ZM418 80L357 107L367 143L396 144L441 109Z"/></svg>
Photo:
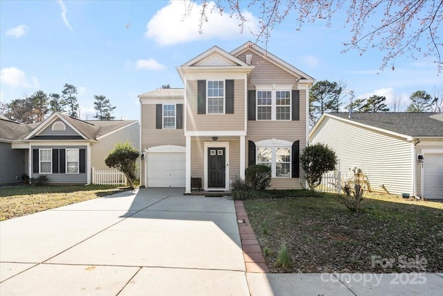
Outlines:
<svg viewBox="0 0 443 296"><path fill-rule="evenodd" d="M244 201L271 272L443 271L442 202L368 194L356 214L336 195L312 195ZM276 263L283 243L289 268Z"/></svg>

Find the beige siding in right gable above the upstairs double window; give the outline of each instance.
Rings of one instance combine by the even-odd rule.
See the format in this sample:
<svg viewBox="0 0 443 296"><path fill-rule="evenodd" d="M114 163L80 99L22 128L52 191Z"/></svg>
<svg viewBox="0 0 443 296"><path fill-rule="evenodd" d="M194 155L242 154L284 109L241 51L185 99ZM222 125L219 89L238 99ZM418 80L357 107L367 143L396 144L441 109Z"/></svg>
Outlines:
<svg viewBox="0 0 443 296"><path fill-rule="evenodd" d="M252 65L255 67L252 71L251 80L248 82L249 85L280 84L297 87L298 77L293 76L288 71L284 71L284 69L276 66L269 60L265 60L260 55L256 55L252 51L245 51L238 55L237 58L246 62L246 55L252 55Z"/></svg>

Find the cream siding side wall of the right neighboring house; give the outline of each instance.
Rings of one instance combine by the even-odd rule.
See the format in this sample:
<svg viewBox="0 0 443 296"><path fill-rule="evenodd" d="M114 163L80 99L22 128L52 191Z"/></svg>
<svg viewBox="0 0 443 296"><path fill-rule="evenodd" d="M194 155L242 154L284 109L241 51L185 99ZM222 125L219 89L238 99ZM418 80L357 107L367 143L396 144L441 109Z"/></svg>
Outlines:
<svg viewBox="0 0 443 296"><path fill-rule="evenodd" d="M350 169L357 167L368 175L372 191L412 193L412 146L406 139L326 117L311 142L336 152L343 177L352 178Z"/></svg>

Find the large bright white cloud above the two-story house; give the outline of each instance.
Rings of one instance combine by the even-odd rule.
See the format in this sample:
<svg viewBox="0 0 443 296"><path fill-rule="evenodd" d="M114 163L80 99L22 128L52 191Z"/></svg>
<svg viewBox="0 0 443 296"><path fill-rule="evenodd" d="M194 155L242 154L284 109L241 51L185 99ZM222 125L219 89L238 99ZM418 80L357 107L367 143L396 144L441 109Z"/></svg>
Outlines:
<svg viewBox="0 0 443 296"><path fill-rule="evenodd" d="M245 35L251 35L251 31L257 32L258 20L251 12L246 10L242 12L248 21L244 24L244 31L241 34L239 19L235 16L230 17L229 13L220 15L218 9L213 9L215 3L212 1L207 5L205 10L208 22L204 21L203 23L203 33L199 33L201 5L189 1L170 1L167 6L157 11L147 23L145 37L153 39L161 45L172 45L211 38L239 39L244 38Z"/></svg>

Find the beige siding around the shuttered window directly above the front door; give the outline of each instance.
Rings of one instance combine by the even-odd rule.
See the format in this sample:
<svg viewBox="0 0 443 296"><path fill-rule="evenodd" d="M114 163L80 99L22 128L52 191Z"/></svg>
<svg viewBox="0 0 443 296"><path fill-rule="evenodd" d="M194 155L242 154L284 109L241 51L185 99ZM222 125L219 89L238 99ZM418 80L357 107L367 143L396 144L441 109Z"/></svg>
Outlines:
<svg viewBox="0 0 443 296"><path fill-rule="evenodd" d="M244 80L234 81L234 114L197 114L197 80L188 80L186 99L186 130L244 130Z"/></svg>

